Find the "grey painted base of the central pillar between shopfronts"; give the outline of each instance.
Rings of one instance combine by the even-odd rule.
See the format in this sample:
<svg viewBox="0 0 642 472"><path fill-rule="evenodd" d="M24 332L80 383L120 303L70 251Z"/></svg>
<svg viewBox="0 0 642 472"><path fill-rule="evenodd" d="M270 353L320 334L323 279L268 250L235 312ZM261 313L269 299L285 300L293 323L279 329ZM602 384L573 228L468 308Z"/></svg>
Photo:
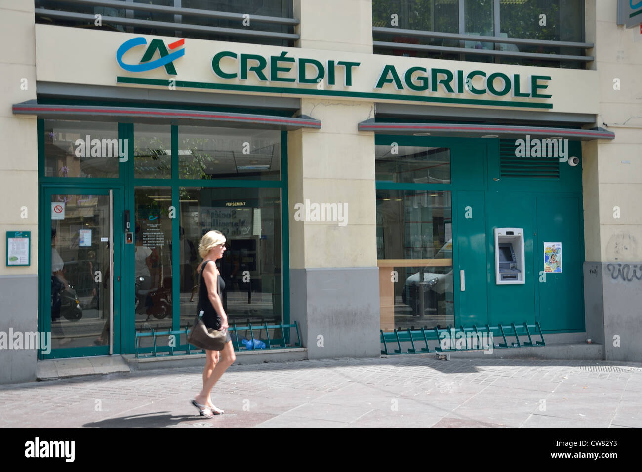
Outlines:
<svg viewBox="0 0 642 472"><path fill-rule="evenodd" d="M379 268L290 270L290 322L308 359L378 357Z"/></svg>

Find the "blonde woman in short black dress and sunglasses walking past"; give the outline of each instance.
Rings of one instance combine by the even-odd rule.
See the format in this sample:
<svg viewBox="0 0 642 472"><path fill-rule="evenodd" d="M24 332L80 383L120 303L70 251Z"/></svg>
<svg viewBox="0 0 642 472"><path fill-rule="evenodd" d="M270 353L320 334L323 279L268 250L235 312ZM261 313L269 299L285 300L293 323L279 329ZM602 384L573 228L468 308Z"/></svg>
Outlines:
<svg viewBox="0 0 642 472"><path fill-rule="evenodd" d="M224 252L225 236L215 229L205 233L198 245L198 254L203 258L203 261L198 265L200 286L198 288L197 310L204 311L203 322L208 329L219 331L227 331L228 328L227 315L223 310L221 299L223 290L225 290L225 282L223 282L223 277L218 272L215 262L223 257ZM205 353L207 360L203 371L203 390L192 400L192 405L198 408L200 415L211 418L213 415L223 413L223 410L216 408L212 403L210 398L212 389L223 372L236 360L230 333L227 333L225 347L221 351L205 349Z"/></svg>

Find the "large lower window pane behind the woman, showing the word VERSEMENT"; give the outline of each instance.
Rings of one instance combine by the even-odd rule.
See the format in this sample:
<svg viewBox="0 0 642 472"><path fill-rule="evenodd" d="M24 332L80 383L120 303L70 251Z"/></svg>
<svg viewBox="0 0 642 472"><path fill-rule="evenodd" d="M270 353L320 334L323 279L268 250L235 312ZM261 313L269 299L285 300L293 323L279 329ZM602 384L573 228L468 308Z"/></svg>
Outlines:
<svg viewBox="0 0 642 472"><path fill-rule="evenodd" d="M217 264L225 281L223 307L230 326L281 322L280 189L180 188L181 326L193 322L196 314L196 267L202 260L198 243L211 229L227 238L227 250ZM239 343L245 335L250 336L239 333ZM270 339L282 338L272 330L269 335Z"/></svg>

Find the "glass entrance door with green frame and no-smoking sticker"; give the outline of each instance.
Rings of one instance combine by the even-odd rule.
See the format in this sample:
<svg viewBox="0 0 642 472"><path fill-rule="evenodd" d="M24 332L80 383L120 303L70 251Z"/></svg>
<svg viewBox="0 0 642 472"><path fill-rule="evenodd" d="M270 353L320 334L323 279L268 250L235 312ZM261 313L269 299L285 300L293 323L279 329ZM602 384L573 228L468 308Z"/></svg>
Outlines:
<svg viewBox="0 0 642 472"><path fill-rule="evenodd" d="M45 191L41 323L51 331L51 354L44 358L119 352L117 197L110 189Z"/></svg>

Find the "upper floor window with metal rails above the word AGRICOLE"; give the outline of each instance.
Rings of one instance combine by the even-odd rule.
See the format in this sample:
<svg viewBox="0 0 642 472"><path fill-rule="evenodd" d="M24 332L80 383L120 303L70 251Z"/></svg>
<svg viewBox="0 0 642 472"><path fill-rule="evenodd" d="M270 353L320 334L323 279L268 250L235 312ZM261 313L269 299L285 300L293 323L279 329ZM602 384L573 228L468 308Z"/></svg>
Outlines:
<svg viewBox="0 0 642 472"><path fill-rule="evenodd" d="M581 0L372 0L375 54L583 69Z"/></svg>

